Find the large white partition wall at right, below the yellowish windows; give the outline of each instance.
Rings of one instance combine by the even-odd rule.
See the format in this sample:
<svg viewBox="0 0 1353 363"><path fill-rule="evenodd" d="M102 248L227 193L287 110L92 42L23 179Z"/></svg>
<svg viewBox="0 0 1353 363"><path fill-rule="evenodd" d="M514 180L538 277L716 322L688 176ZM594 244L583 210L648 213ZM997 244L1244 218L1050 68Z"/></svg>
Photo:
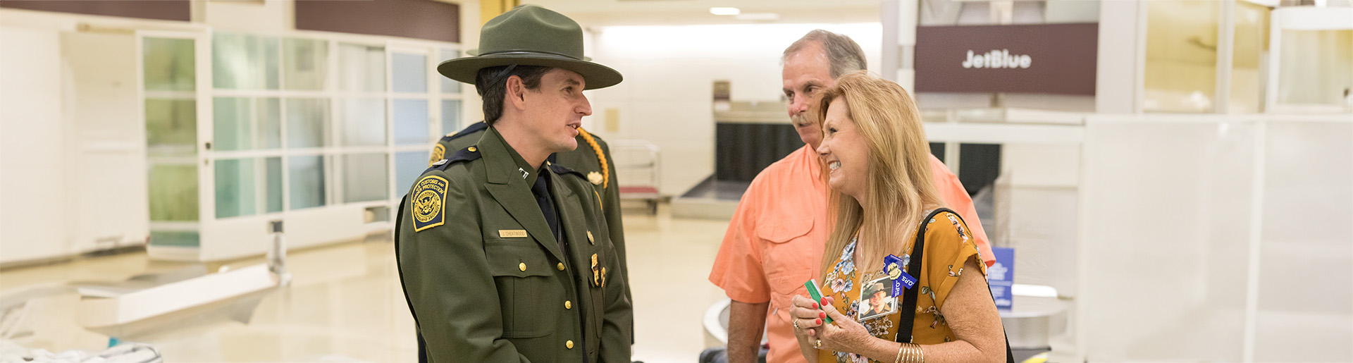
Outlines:
<svg viewBox="0 0 1353 363"><path fill-rule="evenodd" d="M1088 121L1084 358L1353 360L1349 119Z"/></svg>

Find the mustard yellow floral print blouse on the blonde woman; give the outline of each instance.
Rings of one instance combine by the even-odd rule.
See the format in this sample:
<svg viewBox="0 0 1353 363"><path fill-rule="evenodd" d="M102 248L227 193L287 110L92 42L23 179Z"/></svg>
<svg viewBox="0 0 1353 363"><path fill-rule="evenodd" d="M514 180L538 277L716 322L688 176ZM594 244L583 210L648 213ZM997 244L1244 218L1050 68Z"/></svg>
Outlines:
<svg viewBox="0 0 1353 363"><path fill-rule="evenodd" d="M925 214L928 215L930 211ZM984 276L986 275L986 264L982 263L977 245L967 232L967 225L958 215L946 211L936 214L935 218L925 222L928 223L925 228L925 259L921 260L920 275L907 271L917 279L913 289L920 289L920 294L916 297L916 320L911 322L912 343L940 344L954 341L954 330L948 328L948 322L944 321L944 316L940 314L939 309L944 306L944 299L948 297L950 290L954 289L954 283L958 282L958 276L963 275L963 263L976 259L977 265L982 270L978 272ZM907 263L911 261L909 253L916 242L915 240L915 234L908 237L907 248L902 249L907 255L898 256L902 259L904 271L907 270ZM839 251L836 264L829 267L831 271L828 271L825 284L823 286L823 295L832 297L833 307L850 318L856 318L859 313L861 291L865 290L863 284L888 276L885 271L855 270L855 242L851 241L846 244L846 248ZM838 252L828 251L827 253ZM885 256L861 257L882 260ZM902 291L902 294L907 294L905 290ZM894 310L900 309L902 303L901 295L896 297L896 299L898 307L894 307ZM901 320L901 314L893 312L859 322L874 337L894 341L897 340L898 320ZM874 360L856 354L819 351L817 362L866 363Z"/></svg>

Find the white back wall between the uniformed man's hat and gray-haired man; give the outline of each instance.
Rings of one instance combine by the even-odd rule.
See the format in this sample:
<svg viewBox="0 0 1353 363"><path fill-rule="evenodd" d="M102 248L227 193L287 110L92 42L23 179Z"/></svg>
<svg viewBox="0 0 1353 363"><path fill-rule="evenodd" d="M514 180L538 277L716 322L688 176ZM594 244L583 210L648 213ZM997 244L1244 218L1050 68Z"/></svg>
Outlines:
<svg viewBox="0 0 1353 363"><path fill-rule="evenodd" d="M882 42L878 23L595 28L589 56L620 70L625 81L593 91L589 99L594 115L583 126L606 140L656 144L662 148L660 190L679 195L714 169L713 81L729 80L733 100L778 100L779 56L813 28L855 39L865 49L870 70L877 72ZM605 129L607 108L618 111L616 130Z"/></svg>

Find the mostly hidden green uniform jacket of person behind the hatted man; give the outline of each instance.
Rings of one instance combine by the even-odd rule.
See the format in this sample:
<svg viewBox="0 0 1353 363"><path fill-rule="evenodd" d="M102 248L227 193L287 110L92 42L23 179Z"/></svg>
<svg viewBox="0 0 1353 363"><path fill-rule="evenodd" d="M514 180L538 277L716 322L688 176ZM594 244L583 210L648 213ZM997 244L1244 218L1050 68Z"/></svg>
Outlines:
<svg viewBox="0 0 1353 363"><path fill-rule="evenodd" d="M437 146L433 146L432 160L428 163L437 163L437 160L444 158L446 150L456 152L474 145L484 134L487 125L483 122L475 122L464 130L448 134L437 141ZM593 172L601 173L601 160L597 158L597 150L587 144L582 135L576 137L578 149L572 152L561 152L555 154L555 164L563 165L583 173L584 176ZM626 284L629 282L629 260L625 257L625 228L620 221L620 186L616 184L616 163L610 157L610 146L606 141L597 135L593 135L597 141L597 146L601 148L602 154L606 157L606 173L609 177L597 186L597 191L601 194L602 213L606 215L606 226L610 228L610 242L616 245L616 252L620 253L620 279L625 279ZM629 297L633 301L633 297Z"/></svg>

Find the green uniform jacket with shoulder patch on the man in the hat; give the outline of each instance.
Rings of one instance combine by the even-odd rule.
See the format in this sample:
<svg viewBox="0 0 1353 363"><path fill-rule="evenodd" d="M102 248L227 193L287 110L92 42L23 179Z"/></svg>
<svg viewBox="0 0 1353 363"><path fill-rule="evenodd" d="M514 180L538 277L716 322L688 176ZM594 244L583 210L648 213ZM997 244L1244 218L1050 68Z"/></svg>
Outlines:
<svg viewBox="0 0 1353 363"><path fill-rule="evenodd" d="M517 165L490 129L400 202L395 251L419 360L630 362L633 312L594 186L545 168L566 255Z"/></svg>

